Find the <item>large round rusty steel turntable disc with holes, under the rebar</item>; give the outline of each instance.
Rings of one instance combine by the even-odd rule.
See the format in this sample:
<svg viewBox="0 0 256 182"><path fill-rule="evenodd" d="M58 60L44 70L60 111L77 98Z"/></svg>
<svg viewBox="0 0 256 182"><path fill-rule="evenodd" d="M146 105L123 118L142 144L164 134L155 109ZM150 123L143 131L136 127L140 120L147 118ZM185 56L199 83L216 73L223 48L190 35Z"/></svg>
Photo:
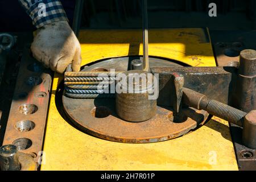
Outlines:
<svg viewBox="0 0 256 182"><path fill-rule="evenodd" d="M94 68L125 71L130 60L127 57L104 60L85 67L83 71ZM181 67L171 61L157 60L150 59L150 66ZM68 118L85 133L125 143L151 143L180 137L204 123L208 117L206 111L191 107L183 108L181 114L174 115L172 107L157 106L153 118L144 122L127 122L115 112L114 98L74 99L63 95L63 106Z"/></svg>

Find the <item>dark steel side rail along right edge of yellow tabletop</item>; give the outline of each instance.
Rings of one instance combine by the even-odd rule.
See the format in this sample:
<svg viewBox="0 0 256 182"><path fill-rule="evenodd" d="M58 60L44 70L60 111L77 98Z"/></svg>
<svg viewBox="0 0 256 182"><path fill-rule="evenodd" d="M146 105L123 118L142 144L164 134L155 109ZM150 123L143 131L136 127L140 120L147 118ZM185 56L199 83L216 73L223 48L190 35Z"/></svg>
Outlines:
<svg viewBox="0 0 256 182"><path fill-rule="evenodd" d="M212 43L214 45L214 55L216 56L217 65L227 65L230 62L233 64L240 61L240 56L237 55L232 57L231 55L225 55L225 49L254 49L256 50L256 39L255 31L210 31ZM236 51L235 51L236 52ZM234 55L233 55L234 56ZM236 67L237 63L235 63ZM247 76L246 76L247 77ZM239 81L241 79L241 81ZM247 78L245 78L247 79ZM243 82L241 85L239 82ZM247 81L249 83L251 81ZM238 77L238 85L241 85L239 89L246 89L246 82L243 78ZM238 107L237 101L240 100L237 97L239 94L234 92L233 104ZM239 108L239 107L238 107ZM242 108L240 108L242 109ZM256 108L253 108L256 109ZM232 141L234 143L234 149L236 151L238 168L240 170L256 170L256 150L248 148L242 143L242 127L230 123L230 133L232 135Z"/></svg>

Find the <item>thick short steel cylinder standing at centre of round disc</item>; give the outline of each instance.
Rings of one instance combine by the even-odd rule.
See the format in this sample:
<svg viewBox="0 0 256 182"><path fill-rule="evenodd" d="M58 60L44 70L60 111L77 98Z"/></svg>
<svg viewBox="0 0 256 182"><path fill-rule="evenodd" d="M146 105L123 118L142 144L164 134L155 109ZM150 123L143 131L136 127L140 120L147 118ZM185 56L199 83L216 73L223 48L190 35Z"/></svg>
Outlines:
<svg viewBox="0 0 256 182"><path fill-rule="evenodd" d="M154 117L156 113L156 100L150 100L149 97L154 86L148 84L150 81L148 80L148 73L136 70L127 71L124 74L127 78L127 85L125 86L121 81L117 81L117 86L121 84L122 90L126 90L127 93L118 93L118 90L116 90L115 94L115 110L119 117L131 122L142 122ZM137 80L136 78L133 79L136 75L144 75L145 77L138 78ZM143 84L143 79L146 79L146 85Z"/></svg>

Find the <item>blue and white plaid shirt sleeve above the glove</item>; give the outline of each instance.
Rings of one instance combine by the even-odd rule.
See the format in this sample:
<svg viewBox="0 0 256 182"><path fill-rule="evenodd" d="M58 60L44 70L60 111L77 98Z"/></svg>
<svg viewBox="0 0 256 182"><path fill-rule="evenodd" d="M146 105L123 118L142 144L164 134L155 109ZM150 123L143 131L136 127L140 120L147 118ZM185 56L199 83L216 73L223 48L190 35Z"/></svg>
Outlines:
<svg viewBox="0 0 256 182"><path fill-rule="evenodd" d="M59 0L19 0L30 15L36 28L52 22L67 20L67 15Z"/></svg>

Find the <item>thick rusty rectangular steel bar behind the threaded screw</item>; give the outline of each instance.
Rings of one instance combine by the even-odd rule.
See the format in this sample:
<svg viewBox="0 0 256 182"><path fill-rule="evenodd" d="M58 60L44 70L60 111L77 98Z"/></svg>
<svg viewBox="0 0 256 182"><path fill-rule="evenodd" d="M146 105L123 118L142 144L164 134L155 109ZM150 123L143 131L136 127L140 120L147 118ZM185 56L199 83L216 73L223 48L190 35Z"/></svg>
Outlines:
<svg viewBox="0 0 256 182"><path fill-rule="evenodd" d="M185 88L205 94L207 97L231 104L230 90L236 80L234 67L182 67L182 68L151 68L152 74L159 74L158 105L173 106L175 103L175 75L184 77Z"/></svg>

